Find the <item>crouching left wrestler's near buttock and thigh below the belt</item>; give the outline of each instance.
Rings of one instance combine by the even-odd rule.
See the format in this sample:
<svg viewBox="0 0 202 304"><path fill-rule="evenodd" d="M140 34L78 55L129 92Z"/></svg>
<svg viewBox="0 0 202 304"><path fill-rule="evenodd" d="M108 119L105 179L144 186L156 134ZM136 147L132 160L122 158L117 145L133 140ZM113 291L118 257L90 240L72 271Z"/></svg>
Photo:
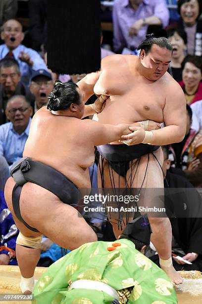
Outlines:
<svg viewBox="0 0 202 304"><path fill-rule="evenodd" d="M75 208L62 203L57 196L36 184L24 184L20 211L28 225L64 248L72 250L83 243L97 240L93 229L78 216ZM23 224L18 226L22 233L26 232L26 229L22 229Z"/></svg>

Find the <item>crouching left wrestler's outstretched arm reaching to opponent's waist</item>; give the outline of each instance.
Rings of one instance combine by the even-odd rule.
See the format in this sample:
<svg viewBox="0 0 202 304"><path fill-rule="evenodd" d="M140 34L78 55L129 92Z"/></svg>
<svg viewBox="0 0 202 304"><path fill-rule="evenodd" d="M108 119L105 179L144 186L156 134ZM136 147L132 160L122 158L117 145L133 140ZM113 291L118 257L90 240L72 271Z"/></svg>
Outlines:
<svg viewBox="0 0 202 304"><path fill-rule="evenodd" d="M111 142L118 141L122 134L131 133L129 124L107 125L97 121L85 119L85 140L92 142L94 146L100 146Z"/></svg>

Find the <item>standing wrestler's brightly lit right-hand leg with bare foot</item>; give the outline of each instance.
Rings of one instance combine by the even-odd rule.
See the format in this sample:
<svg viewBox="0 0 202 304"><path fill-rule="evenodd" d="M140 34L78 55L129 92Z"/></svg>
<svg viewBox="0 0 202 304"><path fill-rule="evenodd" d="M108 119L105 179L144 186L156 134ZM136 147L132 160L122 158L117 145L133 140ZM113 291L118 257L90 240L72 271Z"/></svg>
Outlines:
<svg viewBox="0 0 202 304"><path fill-rule="evenodd" d="M156 156L160 165L162 166L163 153L161 148L153 152L153 154ZM145 190L145 196L143 195L146 202L145 205L148 207L152 207L151 203L153 206L155 206L155 204L157 203L156 196L160 195L161 198L163 198L164 185L163 185L163 175L160 165L157 163L157 160L152 154L149 155L149 163L148 163L148 155L144 155L141 157L141 161L139 162L139 166L137 168L137 172L134 177L132 187L140 188L141 186L143 186L143 188L151 189L151 190L148 189L148 191ZM146 173L146 168L147 168L147 173ZM129 175L129 172L131 171L129 170L127 175ZM143 180L144 183L142 185ZM155 190L154 188L157 189ZM154 189L154 191L152 191L152 189ZM143 189L143 194L144 194L144 189ZM143 201L141 203L143 203ZM172 229L171 229L170 221L168 218L154 218L150 216L149 213L148 213L148 217L152 227L152 236L151 236L152 243L154 244L159 254L159 257L163 260L167 260L171 257ZM178 273L175 271L172 265L170 267L161 267L161 268L167 273L167 275L175 284L182 283L182 278L178 275Z"/></svg>

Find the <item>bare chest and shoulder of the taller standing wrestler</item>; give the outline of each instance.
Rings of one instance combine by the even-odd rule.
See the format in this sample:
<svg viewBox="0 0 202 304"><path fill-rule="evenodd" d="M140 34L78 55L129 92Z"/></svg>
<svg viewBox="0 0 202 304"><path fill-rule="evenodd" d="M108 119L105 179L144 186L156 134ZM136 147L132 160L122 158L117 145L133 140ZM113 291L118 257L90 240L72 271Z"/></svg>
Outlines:
<svg viewBox="0 0 202 304"><path fill-rule="evenodd" d="M112 60L113 57L113 60ZM173 81L168 73L156 81L141 76L136 67L138 56L114 55L103 61L94 92L110 97L99 121L107 124L134 123L151 119L163 122L166 94Z"/></svg>

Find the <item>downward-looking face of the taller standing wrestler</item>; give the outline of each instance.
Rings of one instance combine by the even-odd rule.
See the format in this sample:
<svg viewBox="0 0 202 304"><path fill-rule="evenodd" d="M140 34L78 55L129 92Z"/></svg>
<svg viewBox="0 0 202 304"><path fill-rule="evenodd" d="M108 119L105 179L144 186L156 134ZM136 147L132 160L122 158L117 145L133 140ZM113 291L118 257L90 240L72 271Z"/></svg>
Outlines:
<svg viewBox="0 0 202 304"><path fill-rule="evenodd" d="M158 80L162 77L171 62L172 52L166 48L161 48L153 44L151 50L145 54L145 50L141 51L140 59L142 65L146 68L144 76L149 80Z"/></svg>

